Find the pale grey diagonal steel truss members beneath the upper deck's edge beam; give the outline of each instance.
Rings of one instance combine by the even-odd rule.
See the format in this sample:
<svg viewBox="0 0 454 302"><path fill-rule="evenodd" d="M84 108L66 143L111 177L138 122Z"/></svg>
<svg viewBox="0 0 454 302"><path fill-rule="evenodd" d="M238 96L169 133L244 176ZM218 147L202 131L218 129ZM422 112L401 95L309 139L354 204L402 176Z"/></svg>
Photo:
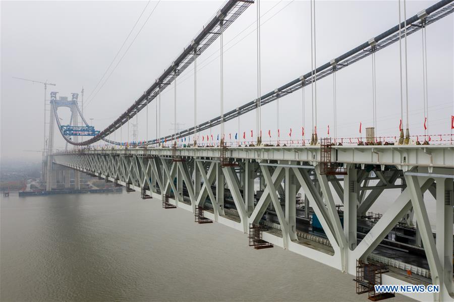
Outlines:
<svg viewBox="0 0 454 302"><path fill-rule="evenodd" d="M235 227L245 232L244 225L249 223L257 223L262 219L264 210L267 206L272 203L277 213L277 218L280 225L282 236L276 236L271 233L264 232L263 239L267 240L275 245L281 246L290 251L304 255L311 259L320 261L329 266L343 270L350 274L355 273L355 265L357 259L367 260L370 253L381 243L383 238L389 233L389 231L395 226L395 224L410 210L414 208L415 217L420 228L421 238L424 244L424 249L427 255L429 263L432 283L440 284L441 292L439 295L424 296L423 299L434 300L449 300L452 297L447 293L452 290L449 282L452 282L448 276L452 276L452 268L449 268L449 264L452 263L452 180L450 178L430 177L430 176L416 176L415 172L422 173L427 171L427 167L422 167L413 170L408 175L404 174L407 180L408 187L395 199L391 206L383 213L383 216L378 219L376 224L371 230L365 235L361 242L356 246L356 209L358 204L359 187L362 182L367 179L364 170L358 169L355 164L349 164L347 167L348 174L344 178L344 182L336 181L329 182L326 175L320 175L319 167L306 165L298 165L296 161L288 162L288 166L272 166L272 162L266 165L258 165L257 162L253 162L254 165L259 166L261 174L264 177L264 192L259 199L258 203L253 208L253 211L248 217L246 204L243 197L240 194L241 186L239 184L238 176L241 173L245 173L245 169L235 170L232 167L220 168L218 161L211 161L199 158L190 158L188 163L184 162L170 162L168 157L154 156L153 158L144 157L139 155L120 155L112 156L109 153L106 154L61 154L54 156L54 163L64 165L70 168L74 168L84 172L90 172L101 177L108 178L110 180L119 180L119 183L126 185L132 181L131 188L140 192L141 187L146 186L147 194L160 197L157 193L156 186L152 184L157 183L161 193L167 192L172 188L176 193L176 196L182 194L181 186L174 186L174 178L181 174L182 181L188 188L188 194L191 200L191 206L179 202L178 198L171 199L171 203L175 203L178 207L187 209L194 212L195 205L203 205L204 200L208 198L211 200L213 213L205 211L204 215L206 218L216 219L216 221ZM194 168L192 168L194 165ZM246 166L246 165L245 165ZM193 169L193 173L191 170ZM218 170L219 169L219 170ZM253 171L252 177L254 177L255 169L249 169ZM223 212L221 212L214 196L211 186L213 185L216 173L221 171L225 177L225 182L235 202L240 223L234 222L227 218ZM314 185L313 179L310 177L311 171L315 171L316 179L320 185L321 192ZM449 175L454 172L454 168L434 168L434 175ZM104 173L108 173L104 174ZM377 173L377 177L380 182L386 184L392 184L396 177L402 175L403 171L391 171L385 173ZM195 186L193 180L197 179L196 174L199 174L198 179L202 179L204 185L198 194L195 193ZM165 175L162 180L162 175ZM240 179L245 179L246 175L241 175ZM115 177L115 178L114 178ZM281 208L281 204L278 198L279 191L281 190L280 185L282 180L285 179L285 191L286 191L286 205L285 213ZM436 187L436 200L437 200L437 229L441 229L440 233L437 233L437 240L435 242L430 225L428 224L427 211L423 202L423 194L434 184L443 184ZM339 223L339 217L335 209L333 197L330 193L329 183L333 184L344 184L343 189L343 201L346 207L345 211L348 211L344 215L344 225L348 227L342 228ZM350 188L352 184L352 188ZM223 181L218 181L216 186L224 187ZM295 186L293 188L292 186ZM292 226L294 225L294 217L290 211L295 207L293 199L294 192L296 192L301 186L304 194L310 201L310 204L320 220L320 223L328 237L329 242L334 250L334 255L328 255L326 253L313 250L311 248L300 245L297 242L298 237L292 233ZM163 189L163 190L162 190ZM381 188L379 189L381 190ZM448 192L448 193L446 193ZM292 196L292 197L291 197ZM448 196L448 199L446 199ZM363 202L367 201L367 197ZM361 206L361 203L359 204ZM350 208L349 208L350 207ZM223 210L223 205L221 205ZM349 211L352 210L352 211ZM439 221L438 221L439 220ZM446 225L446 223L448 225ZM384 283L392 284L392 282L402 283L404 281L395 279L393 277L386 276L383 279ZM404 282L405 283L405 282ZM451 284L452 285L452 284ZM415 297L415 296L414 296ZM416 298L418 298L416 296Z"/></svg>

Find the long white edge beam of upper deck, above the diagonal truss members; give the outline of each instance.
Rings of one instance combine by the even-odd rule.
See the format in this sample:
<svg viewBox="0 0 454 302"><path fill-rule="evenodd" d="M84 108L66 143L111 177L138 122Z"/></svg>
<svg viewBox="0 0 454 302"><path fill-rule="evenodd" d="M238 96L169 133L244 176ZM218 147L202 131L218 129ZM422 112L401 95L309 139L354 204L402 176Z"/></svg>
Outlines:
<svg viewBox="0 0 454 302"><path fill-rule="evenodd" d="M317 165L320 162L319 146L287 147L229 147L227 156L239 160L254 159L262 163L270 160L297 162ZM454 168L454 145L407 145L407 146L332 146L331 158L339 163L392 165L404 171L411 168L433 167ZM172 148L100 148L73 150L55 153L63 154L103 154L103 155L143 155L171 157ZM195 157L217 160L219 147L181 147L177 154L182 157Z"/></svg>

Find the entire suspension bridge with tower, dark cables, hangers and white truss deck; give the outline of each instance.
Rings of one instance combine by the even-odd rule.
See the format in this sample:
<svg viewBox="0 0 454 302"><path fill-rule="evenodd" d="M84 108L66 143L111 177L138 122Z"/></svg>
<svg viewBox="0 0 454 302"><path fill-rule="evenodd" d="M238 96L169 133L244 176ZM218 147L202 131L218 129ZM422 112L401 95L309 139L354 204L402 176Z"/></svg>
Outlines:
<svg viewBox="0 0 454 302"><path fill-rule="evenodd" d="M265 94L261 93L260 2L249 0L226 2L153 84L103 130L96 131L87 123L78 105L78 94L68 100L51 92L49 138L43 152L47 190L52 190L52 175L57 169L77 171L76 188L80 186L78 173L88 173L115 186L125 186L127 192L139 192L143 199L159 199L164 209L191 211L198 223L215 221L247 233L249 245L256 249L279 246L355 275L357 292L368 293L373 300L391 295L375 292L373 285L379 283L439 285L437 293L407 295L418 300L452 300L454 145L451 134L435 135L428 130L425 31L454 12L454 4L443 0L410 18L406 16L405 1L403 4L401 14L399 2L398 24L345 53L333 53L337 56L317 66L316 3L311 1L312 69ZM254 6L257 97L224 111L223 33ZM408 123L407 37L418 32L424 51L424 135L410 134ZM215 41L220 43L220 114L197 124L197 58ZM337 137L334 92L334 135L329 135L328 128L328 137L320 137L317 82L332 76L335 91L338 72L369 56L375 70L375 54L394 43L400 46L399 132L393 137L376 135L374 82L374 127L367 128L364 137L362 125L360 135ZM192 65L194 126L179 130L177 81ZM155 120L149 118L148 105L157 102L156 108L160 108L161 93L171 86L175 130L161 135L160 112ZM281 138L279 121L277 139L271 139L269 130L269 139L266 133L262 137L261 106L274 102L279 110L280 98L305 88L311 89L312 102L312 126L306 131L307 138L304 127L301 135L294 132L292 136L290 129L288 138ZM62 125L60 107L71 109L69 125ZM146 137L131 141L129 124L142 110L146 111ZM225 133L224 123L251 111L256 113L255 130ZM153 138L149 138L149 119L157 125ZM74 149L53 152L55 124ZM123 126L127 129L125 140ZM220 128L219 134L206 134L214 127ZM387 210L381 214L370 212L371 206L391 189L399 189L400 193ZM435 200L435 233L424 200L426 191Z"/></svg>

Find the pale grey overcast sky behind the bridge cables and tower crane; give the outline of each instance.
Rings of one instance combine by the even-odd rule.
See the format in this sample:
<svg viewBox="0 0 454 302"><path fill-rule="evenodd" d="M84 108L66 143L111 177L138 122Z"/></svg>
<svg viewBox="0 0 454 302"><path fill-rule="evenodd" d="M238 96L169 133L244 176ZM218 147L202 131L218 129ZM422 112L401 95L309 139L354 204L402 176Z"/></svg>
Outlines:
<svg viewBox="0 0 454 302"><path fill-rule="evenodd" d="M435 2L408 1L407 17ZM102 130L129 107L183 47L215 14L222 2L161 1L150 2L131 37L113 64L116 66L139 29L142 31L102 88L96 84L125 41L147 2L52 1L7 2L1 6L1 159L40 158L43 147L42 84L13 77L56 83L50 91L60 96L85 89L84 115L93 118ZM310 3L308 1L262 1L261 64L262 94L274 90L310 71ZM256 97L255 5L249 7L224 34L224 109L234 109ZM316 3L317 66L398 24L396 1L323 1ZM453 16L427 28L428 102L430 133L449 134L453 114ZM146 23L145 23L146 22ZM248 27L250 26L250 27ZM245 30L246 28L246 30ZM421 31L408 38L408 89L411 134L424 134L423 74ZM219 40L198 59L197 122L219 115L220 74ZM398 135L400 119L399 45L376 54L377 62L377 134ZM110 74L111 69L107 72ZM101 82L101 85L104 83ZM359 123L372 126L371 57L337 73L337 136L358 136ZM98 86L99 88L99 86ZM333 127L332 77L317 84L319 136ZM310 89L306 88L303 118L302 93L293 93L280 101L280 129L288 136L294 129L301 137L311 128ZM90 96L90 97L89 97ZM94 96L94 97L93 97ZM80 101L80 98L79 98ZM173 126L173 86L162 94L161 134ZM192 67L178 80L178 122L182 128L194 124L194 78ZM69 110L59 109L69 123ZM47 111L48 120L48 111ZM263 136L271 130L276 136L276 104L262 108ZM149 105L149 139L155 137L155 103ZM145 110L139 114L139 139L146 139ZM305 122L304 122L305 120ZM255 113L241 117L240 132L255 132ZM405 121L404 121L405 122ZM126 127L123 127L123 140ZM364 129L363 128L363 129ZM56 148L65 147L55 128ZM225 126L226 133L238 131L238 121ZM172 131L173 132L173 131ZM213 134L218 130L213 129ZM255 136L255 134L254 134ZM112 137L113 139L113 137ZM120 132L116 133L120 139Z"/></svg>

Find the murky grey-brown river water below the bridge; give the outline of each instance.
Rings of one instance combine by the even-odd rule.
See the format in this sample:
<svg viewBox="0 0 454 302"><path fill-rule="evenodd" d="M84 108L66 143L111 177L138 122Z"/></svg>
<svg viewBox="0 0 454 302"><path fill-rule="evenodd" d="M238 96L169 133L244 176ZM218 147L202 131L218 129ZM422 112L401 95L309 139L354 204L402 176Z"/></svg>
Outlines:
<svg viewBox="0 0 454 302"><path fill-rule="evenodd" d="M353 276L138 193L0 204L2 301L367 300Z"/></svg>

